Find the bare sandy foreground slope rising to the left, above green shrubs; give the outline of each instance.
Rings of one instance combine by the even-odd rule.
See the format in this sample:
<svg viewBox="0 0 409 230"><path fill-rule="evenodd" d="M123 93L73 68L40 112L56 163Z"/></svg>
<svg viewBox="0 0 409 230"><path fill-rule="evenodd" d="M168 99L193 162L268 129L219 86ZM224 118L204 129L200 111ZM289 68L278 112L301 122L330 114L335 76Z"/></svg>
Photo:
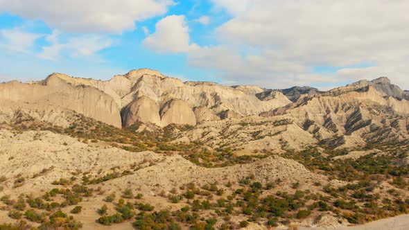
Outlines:
<svg viewBox="0 0 409 230"><path fill-rule="evenodd" d="M41 197L53 188L70 188L72 184L84 184L87 188L98 191L76 202L76 205L83 206L83 214L73 216L84 224L84 229L102 228L95 222L100 218L97 209L103 204L112 206L110 203L103 202L103 198L111 193L121 196L121 191L124 190L130 190L135 195L143 194L142 200L139 199L139 201L154 204L157 210L177 211L186 205L185 201L173 204L165 197L184 193L183 187L192 183L198 188L207 184L218 184L225 193L218 197L226 197L240 187L239 182L243 178L252 177L262 184L281 180L282 183L277 184L274 191L279 189L288 193L295 191L291 188L291 184L295 182L299 183L299 189L309 188L311 191L317 191L311 187L311 184L325 183L328 180L327 177L310 172L295 161L281 157L268 157L245 166L202 168L180 155L127 152L103 143L85 144L69 136L52 132L30 131L16 134L8 130L0 130L0 157L3 202L6 199L18 200L20 195L27 195L28 200L34 199L31 197ZM98 179L103 175L116 176L93 182L92 179ZM64 179L64 182L61 179ZM224 186L225 184L232 185ZM333 181L333 185L338 186L340 182ZM266 192L272 193L272 191ZM200 195L197 196L200 197ZM206 196L204 195L204 198ZM123 197L126 196L123 195ZM138 202L138 199L133 196L126 200ZM51 198L49 202L51 201L60 203L63 200L57 196ZM69 212L73 209L73 204L62 204L52 210L62 209L64 212ZM45 206L42 208L29 203L22 211L31 209L28 206L40 212L42 209L49 210ZM1 222L13 221L12 218L7 217L10 209L12 210L12 206L0 211ZM206 211L199 213L204 217L208 216ZM238 217L236 221L241 219ZM120 224L118 227L132 229L129 222Z"/></svg>

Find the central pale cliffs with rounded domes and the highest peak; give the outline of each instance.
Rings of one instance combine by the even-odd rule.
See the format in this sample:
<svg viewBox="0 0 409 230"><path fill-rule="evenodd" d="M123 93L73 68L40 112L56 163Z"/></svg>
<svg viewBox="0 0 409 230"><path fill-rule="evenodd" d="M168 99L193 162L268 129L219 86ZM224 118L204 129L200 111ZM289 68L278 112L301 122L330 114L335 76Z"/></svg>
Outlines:
<svg viewBox="0 0 409 230"><path fill-rule="evenodd" d="M256 115L291 103L279 92L260 100L256 94L264 89L259 87L182 82L150 69L133 70L108 81L77 82L92 85L111 96L122 109L125 127L137 121L162 127L170 123L195 125L198 121L217 121L232 114L234 117Z"/></svg>

